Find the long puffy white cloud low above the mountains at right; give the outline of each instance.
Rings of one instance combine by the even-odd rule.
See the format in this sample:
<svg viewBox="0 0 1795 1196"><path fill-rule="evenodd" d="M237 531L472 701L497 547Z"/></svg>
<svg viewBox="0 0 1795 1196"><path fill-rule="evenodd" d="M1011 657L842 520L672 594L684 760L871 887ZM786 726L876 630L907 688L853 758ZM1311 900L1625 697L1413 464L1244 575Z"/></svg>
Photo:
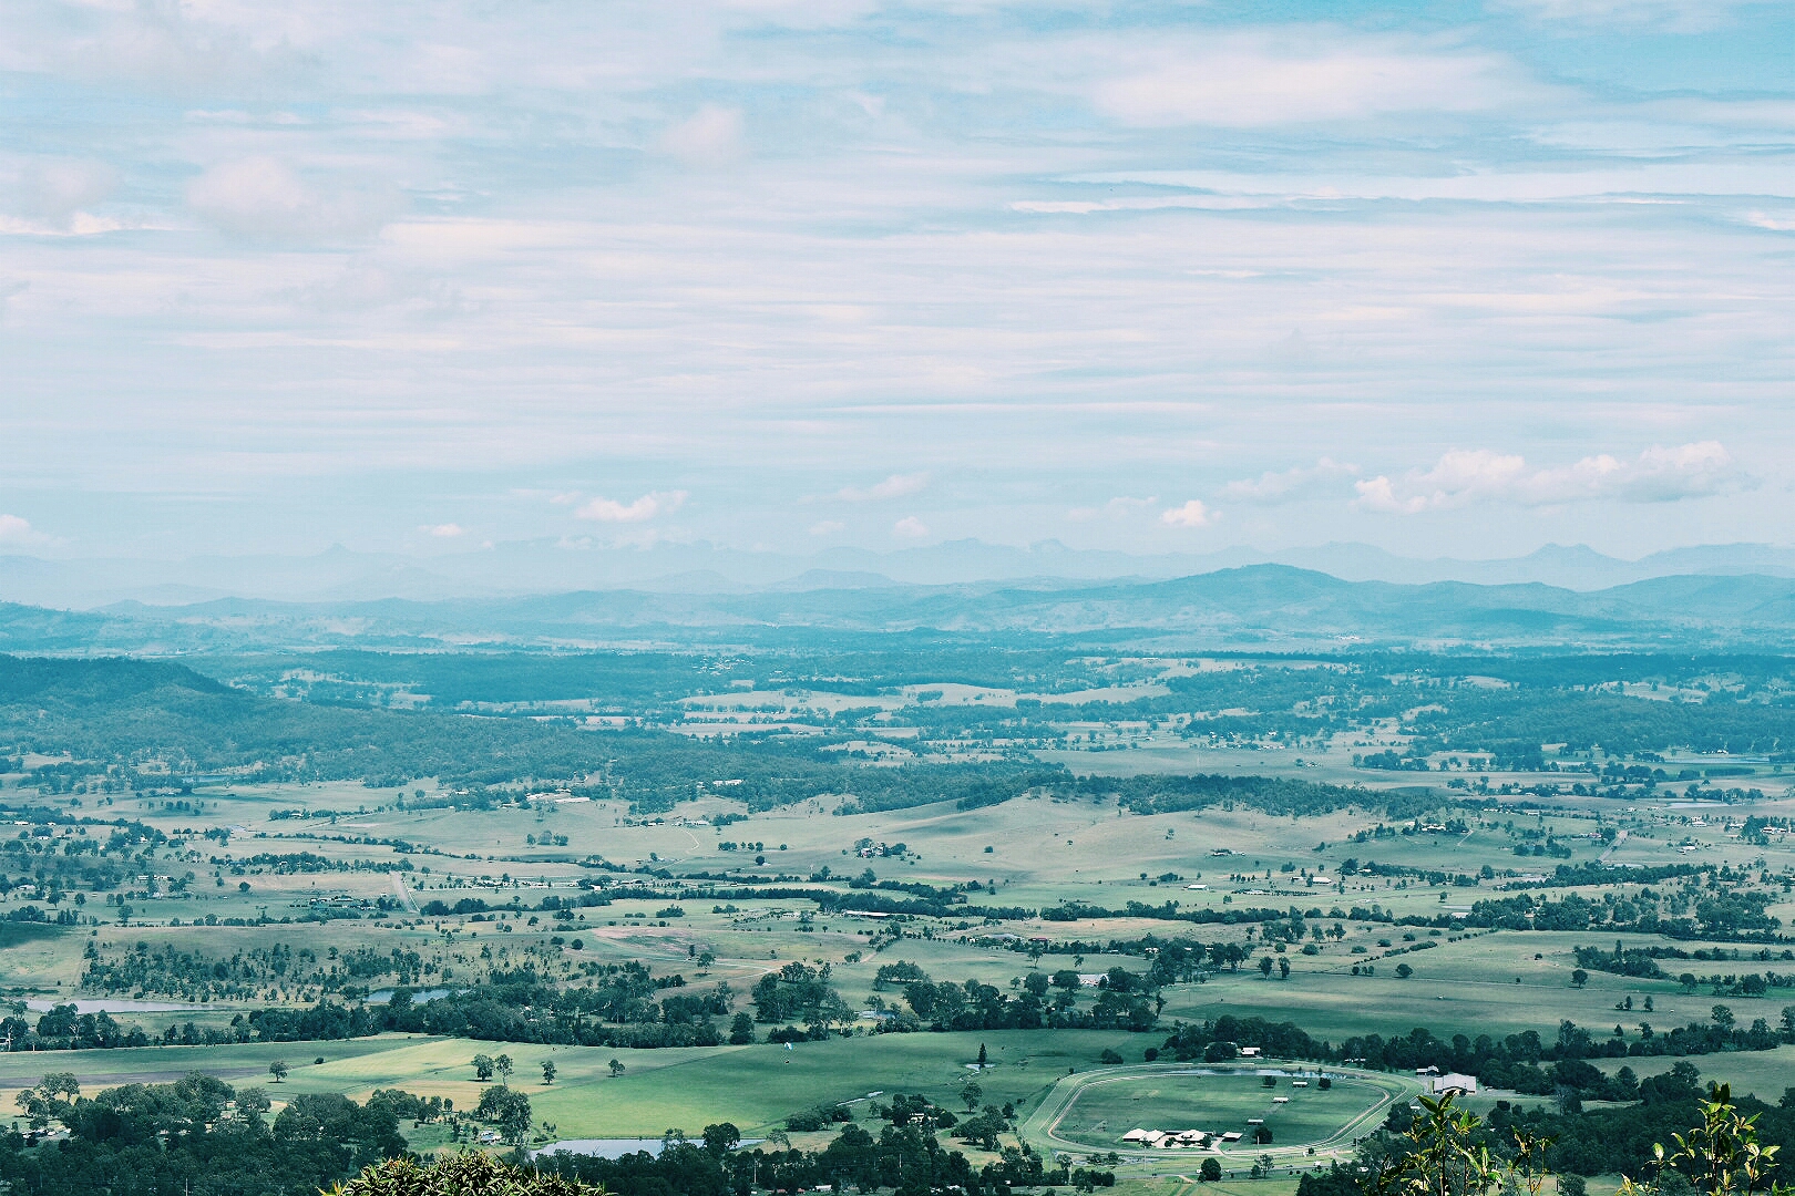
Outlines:
<svg viewBox="0 0 1795 1196"><path fill-rule="evenodd" d="M1452 450L1425 472L1400 481L1386 475L1355 482L1361 511L1420 515L1474 502L1562 506L1567 502L1677 502L1730 493L1756 484L1720 441L1651 446L1633 461L1608 454L1535 470L1517 454Z"/></svg>

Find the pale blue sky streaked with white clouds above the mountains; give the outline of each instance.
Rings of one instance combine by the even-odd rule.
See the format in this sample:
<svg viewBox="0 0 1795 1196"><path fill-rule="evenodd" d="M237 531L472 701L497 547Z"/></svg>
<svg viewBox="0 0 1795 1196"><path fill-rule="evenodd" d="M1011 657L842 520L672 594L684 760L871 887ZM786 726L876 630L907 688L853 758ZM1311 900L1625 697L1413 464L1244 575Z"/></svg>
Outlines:
<svg viewBox="0 0 1795 1196"><path fill-rule="evenodd" d="M1791 289L1788 4L0 5L0 552L1791 543Z"/></svg>

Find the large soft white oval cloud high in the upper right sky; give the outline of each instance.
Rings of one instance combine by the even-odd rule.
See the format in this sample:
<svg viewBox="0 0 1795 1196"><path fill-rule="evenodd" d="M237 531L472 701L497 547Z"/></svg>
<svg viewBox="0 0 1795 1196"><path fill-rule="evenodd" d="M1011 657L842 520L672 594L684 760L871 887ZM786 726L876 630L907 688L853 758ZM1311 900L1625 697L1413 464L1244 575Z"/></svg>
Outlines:
<svg viewBox="0 0 1795 1196"><path fill-rule="evenodd" d="M1434 50L1337 34L1289 41L1217 38L1138 56L1142 68L1095 88L1129 126L1262 127L1386 113L1481 111L1537 90L1497 54Z"/></svg>

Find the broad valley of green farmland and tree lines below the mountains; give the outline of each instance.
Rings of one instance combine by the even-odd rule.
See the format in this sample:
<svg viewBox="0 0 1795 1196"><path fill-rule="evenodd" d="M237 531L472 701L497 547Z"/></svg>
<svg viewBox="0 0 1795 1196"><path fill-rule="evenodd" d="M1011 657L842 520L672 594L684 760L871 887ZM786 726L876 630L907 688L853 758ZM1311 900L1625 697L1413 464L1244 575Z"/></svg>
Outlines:
<svg viewBox="0 0 1795 1196"><path fill-rule="evenodd" d="M729 1122L820 1149L842 1124L921 1117L991 1160L1269 1114L1258 1153L1312 1169L1420 1063L1483 1067L1483 1108L1567 1085L1624 1105L1675 1060L1775 1101L1795 1049L1777 751L1474 750L1443 723L1452 694L1488 715L1506 690L1454 687L1459 662L1411 669L1404 698L1350 662L1038 658L1030 689L989 656L806 689L750 656L609 694L598 669L573 698L564 665L531 696L510 658L488 703L490 660L433 662L456 714L398 689L406 658L337 663L325 690L346 705L309 705L318 662L302 681L215 660L230 687L83 690L99 714L61 742L13 723L0 1099L52 1070L84 1092L201 1070L276 1110L402 1090L454 1110L406 1126L427 1151L479 1130L497 1083L528 1099L537 1148ZM1775 717L1781 674L1736 683L1736 663L1678 665L1677 692ZM56 669L99 671L92 689L106 665ZM61 683L43 710L79 708ZM1186 701L1249 692L1203 717ZM1551 689L1537 717L1580 692L1610 694ZM1366 714L1312 714L1346 696ZM370 758L232 764L201 744L208 703L355 728ZM131 728L115 744L108 719ZM512 762L474 769L458 724L479 728L460 750ZM438 771L395 776L400 748ZM1249 1040L1294 1044L1334 1087L1271 1106L1256 1079L1197 1078ZM476 1072L501 1054L503 1076Z"/></svg>

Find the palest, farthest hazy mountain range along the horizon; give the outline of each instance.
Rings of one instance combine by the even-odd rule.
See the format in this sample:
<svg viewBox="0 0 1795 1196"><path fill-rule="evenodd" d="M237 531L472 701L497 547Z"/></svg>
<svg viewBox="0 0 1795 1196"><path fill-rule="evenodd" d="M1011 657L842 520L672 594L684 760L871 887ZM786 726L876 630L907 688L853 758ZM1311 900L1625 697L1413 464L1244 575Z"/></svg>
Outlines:
<svg viewBox="0 0 1795 1196"><path fill-rule="evenodd" d="M1029 547L957 540L896 552L829 549L815 556L792 556L743 552L707 543L578 549L551 540L531 540L429 558L352 552L343 547L314 556L201 556L181 561L0 556L0 601L93 610L120 601L156 606L224 597L282 602L379 599L427 602L623 588L695 595L991 581L1064 588L1091 581L1169 581L1248 565L1291 565L1343 581L1540 583L1594 592L1680 574L1795 577L1795 549L1754 543L1707 545L1623 561L1585 545L1547 545L1520 558L1463 561L1413 559L1364 543L1327 543L1282 552L1226 549L1210 554L1133 556L1068 549L1054 540Z"/></svg>

